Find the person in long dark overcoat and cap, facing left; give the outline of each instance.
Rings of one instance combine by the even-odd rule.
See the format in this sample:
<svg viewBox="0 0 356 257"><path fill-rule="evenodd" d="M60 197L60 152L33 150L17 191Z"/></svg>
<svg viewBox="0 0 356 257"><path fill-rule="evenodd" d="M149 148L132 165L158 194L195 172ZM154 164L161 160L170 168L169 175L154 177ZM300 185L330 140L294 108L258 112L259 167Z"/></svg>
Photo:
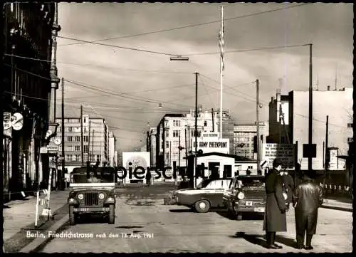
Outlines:
<svg viewBox="0 0 356 257"><path fill-rule="evenodd" d="M266 231L267 248L279 249L275 243L276 232L287 231L286 200L283 197L283 182L280 175L282 162L273 160L273 169L266 176L266 211L263 230Z"/></svg>

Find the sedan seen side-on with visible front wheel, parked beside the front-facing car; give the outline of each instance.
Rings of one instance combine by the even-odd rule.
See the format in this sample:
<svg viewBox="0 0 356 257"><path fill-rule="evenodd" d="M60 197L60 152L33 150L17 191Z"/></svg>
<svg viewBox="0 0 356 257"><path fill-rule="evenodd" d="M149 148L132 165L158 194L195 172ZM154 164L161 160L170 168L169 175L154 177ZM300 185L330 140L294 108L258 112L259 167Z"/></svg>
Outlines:
<svg viewBox="0 0 356 257"><path fill-rule="evenodd" d="M222 196L229 188L231 179L204 179L197 189L180 189L175 192L178 205L188 206L199 213L211 207L222 208Z"/></svg>

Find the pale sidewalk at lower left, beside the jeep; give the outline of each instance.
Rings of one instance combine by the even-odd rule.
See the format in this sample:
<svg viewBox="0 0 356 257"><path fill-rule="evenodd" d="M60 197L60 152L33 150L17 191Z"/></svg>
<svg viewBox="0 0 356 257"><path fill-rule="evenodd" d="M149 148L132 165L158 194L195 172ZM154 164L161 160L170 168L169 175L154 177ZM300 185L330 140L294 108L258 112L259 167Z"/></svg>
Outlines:
<svg viewBox="0 0 356 257"><path fill-rule="evenodd" d="M40 199L44 199L46 195L41 194ZM66 206L68 198L68 189L66 190L58 190L51 192L51 201L50 207L52 214L56 214L56 212L61 209L63 206ZM42 209L46 206L42 206L41 202L38 206L38 217L42 214ZM18 237L20 234L24 233L24 229L33 229L35 216L36 216L36 197L28 196L23 200L10 201L6 204L3 204L3 216L4 216L4 232L3 232L3 240L4 245L9 243L9 239L11 241ZM54 215L54 221L58 218L57 215ZM46 221L46 222L44 222ZM47 221L47 218L38 219L38 226L41 226L43 222L51 223ZM6 242L8 241L8 242Z"/></svg>

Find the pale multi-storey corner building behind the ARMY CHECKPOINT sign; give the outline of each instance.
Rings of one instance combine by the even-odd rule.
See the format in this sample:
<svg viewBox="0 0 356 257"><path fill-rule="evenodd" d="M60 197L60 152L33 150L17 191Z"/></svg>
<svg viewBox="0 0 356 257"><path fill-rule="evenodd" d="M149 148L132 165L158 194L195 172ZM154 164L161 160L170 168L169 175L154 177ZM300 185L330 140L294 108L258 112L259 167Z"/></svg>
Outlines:
<svg viewBox="0 0 356 257"><path fill-rule="evenodd" d="M200 140L204 132L216 132L219 135L219 110L203 111L199 105L197 116L197 137ZM229 153L234 149L234 122L229 116L229 112L223 112L223 132L222 137L229 139ZM157 130L151 130L150 142L156 135L155 144L150 144L155 152L157 167L170 166L173 162L177 166L186 167L188 154L194 154L194 130L195 130L195 110L190 110L186 114L167 114L162 117ZM181 148L179 148L179 146ZM153 148L155 147L155 148ZM182 148L183 147L183 148ZM180 150L179 150L180 149ZM152 155L152 154L151 154ZM180 156L180 157L179 157Z"/></svg>

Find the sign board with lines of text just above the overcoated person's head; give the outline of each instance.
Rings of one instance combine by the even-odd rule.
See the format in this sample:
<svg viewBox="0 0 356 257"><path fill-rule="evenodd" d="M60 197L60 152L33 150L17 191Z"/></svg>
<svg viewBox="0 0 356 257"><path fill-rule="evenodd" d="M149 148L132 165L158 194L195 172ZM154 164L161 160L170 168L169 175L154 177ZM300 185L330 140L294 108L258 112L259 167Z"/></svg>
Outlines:
<svg viewBox="0 0 356 257"><path fill-rule="evenodd" d="M268 168L273 167L273 159L277 157L281 159L283 163L283 168L293 168L294 167L294 154L293 145L289 144L262 144L263 152L262 159L266 160Z"/></svg>

